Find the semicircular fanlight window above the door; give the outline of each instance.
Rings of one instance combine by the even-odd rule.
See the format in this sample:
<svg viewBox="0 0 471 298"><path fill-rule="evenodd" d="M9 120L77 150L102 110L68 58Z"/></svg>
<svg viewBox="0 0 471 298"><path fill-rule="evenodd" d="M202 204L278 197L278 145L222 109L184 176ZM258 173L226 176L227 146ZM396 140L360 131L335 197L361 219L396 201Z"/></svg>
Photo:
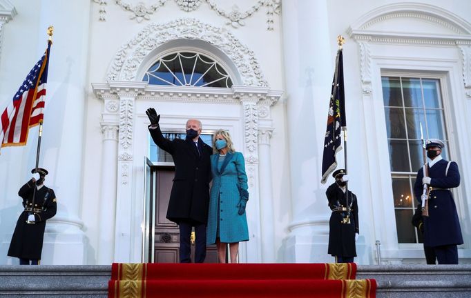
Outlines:
<svg viewBox="0 0 471 298"><path fill-rule="evenodd" d="M146 71L142 81L166 86L232 86L229 74L219 63L193 52L177 52L159 59Z"/></svg>

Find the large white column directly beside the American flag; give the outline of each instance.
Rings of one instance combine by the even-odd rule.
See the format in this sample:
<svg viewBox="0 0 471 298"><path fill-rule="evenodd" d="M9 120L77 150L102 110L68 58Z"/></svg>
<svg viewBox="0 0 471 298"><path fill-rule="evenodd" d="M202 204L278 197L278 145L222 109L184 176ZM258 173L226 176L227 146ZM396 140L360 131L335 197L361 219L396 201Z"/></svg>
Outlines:
<svg viewBox="0 0 471 298"><path fill-rule="evenodd" d="M46 226L42 263L84 264L87 240L79 214L90 1L43 0L37 13L37 36L44 39L38 53L46 49L46 29L55 27L39 166L50 173L46 185L55 190L57 215Z"/></svg>

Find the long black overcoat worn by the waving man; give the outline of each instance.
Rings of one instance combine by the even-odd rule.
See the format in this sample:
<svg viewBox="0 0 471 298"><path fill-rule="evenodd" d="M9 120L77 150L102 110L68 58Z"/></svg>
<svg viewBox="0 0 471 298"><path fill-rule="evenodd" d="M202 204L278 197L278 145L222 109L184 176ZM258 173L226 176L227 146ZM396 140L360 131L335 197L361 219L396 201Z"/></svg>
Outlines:
<svg viewBox="0 0 471 298"><path fill-rule="evenodd" d="M209 181L211 181L211 161L213 149L198 138L198 153L193 140L164 138L160 127L149 132L155 144L169 152L175 163L175 177L170 194L166 218L177 223L191 219L206 224L209 210Z"/></svg>

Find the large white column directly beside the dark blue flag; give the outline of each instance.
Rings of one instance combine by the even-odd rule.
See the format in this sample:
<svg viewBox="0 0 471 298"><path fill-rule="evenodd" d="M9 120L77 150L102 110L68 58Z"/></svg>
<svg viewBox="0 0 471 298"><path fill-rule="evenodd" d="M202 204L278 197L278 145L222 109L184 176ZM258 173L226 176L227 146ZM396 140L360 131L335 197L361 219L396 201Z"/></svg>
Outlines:
<svg viewBox="0 0 471 298"><path fill-rule="evenodd" d="M327 255L330 210L320 184L336 54L327 15L327 0L282 1L291 170L291 224L285 241L289 262L332 261Z"/></svg>

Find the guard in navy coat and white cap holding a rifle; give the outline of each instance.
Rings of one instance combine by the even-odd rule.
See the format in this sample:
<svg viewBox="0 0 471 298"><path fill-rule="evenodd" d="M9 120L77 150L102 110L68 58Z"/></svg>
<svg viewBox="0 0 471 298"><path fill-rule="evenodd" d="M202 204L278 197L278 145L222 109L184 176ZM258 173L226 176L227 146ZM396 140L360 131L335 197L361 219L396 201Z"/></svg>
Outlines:
<svg viewBox="0 0 471 298"><path fill-rule="evenodd" d="M428 217L423 217L425 246L434 248L439 264L458 264L456 245L463 244L458 213L450 188L459 186L458 165L445 161L441 150L445 145L439 139L428 139L425 143L428 164L428 177L423 177L423 168L417 172L414 195L419 203L427 199L423 195L423 184L430 188L428 197Z"/></svg>

